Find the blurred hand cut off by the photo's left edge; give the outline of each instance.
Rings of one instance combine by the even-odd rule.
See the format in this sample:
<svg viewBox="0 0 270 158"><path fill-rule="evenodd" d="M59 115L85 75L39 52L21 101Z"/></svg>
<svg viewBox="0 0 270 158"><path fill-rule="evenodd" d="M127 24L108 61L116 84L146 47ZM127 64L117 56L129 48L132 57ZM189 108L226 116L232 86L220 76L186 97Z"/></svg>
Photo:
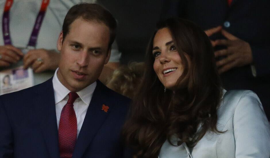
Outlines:
<svg viewBox="0 0 270 158"><path fill-rule="evenodd" d="M24 54L12 45L0 46L0 67L8 67L11 63L17 63Z"/></svg>

